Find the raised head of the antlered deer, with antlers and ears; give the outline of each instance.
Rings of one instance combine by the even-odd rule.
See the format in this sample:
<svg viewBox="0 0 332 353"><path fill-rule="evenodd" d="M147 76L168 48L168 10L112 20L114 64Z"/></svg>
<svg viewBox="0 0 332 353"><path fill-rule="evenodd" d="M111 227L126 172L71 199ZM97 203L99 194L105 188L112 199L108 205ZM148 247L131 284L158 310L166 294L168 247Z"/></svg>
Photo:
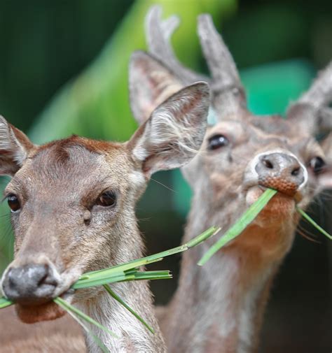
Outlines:
<svg viewBox="0 0 332 353"><path fill-rule="evenodd" d="M279 193L265 210L272 216L268 222L272 219L286 222L286 217L292 220L289 226L293 229L297 221L296 203L305 207L321 189L332 186L331 157L327 155L331 154L328 147L331 136L321 144L315 139L321 131L331 130L332 113L328 103L332 99L332 64L291 104L286 120L280 115L256 116L247 109L240 75L212 18L209 15L198 18L198 35L212 78L190 71L174 56L170 36L178 23L174 16L160 20L158 6L146 16L149 52L165 66L165 71L163 75L153 69L141 71L140 75L150 77L148 85L144 85L146 80L137 80L138 69L132 73L132 96L137 97L135 82L142 92L133 100L134 115L138 106L144 106L148 117L159 97L165 99L181 85L195 80L209 82L210 124L200 153L182 168L193 188L195 212L200 209L201 215L205 213L195 217L196 222L200 223L202 218L216 222L221 210L223 217L235 220L265 187L272 187ZM151 66L151 57L141 63L144 65Z"/></svg>

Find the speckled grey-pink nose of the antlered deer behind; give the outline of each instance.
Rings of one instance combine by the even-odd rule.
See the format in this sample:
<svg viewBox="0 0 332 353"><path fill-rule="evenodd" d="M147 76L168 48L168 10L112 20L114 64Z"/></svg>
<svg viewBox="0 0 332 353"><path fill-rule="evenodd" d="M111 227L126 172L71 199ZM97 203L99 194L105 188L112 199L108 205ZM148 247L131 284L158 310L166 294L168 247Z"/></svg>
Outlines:
<svg viewBox="0 0 332 353"><path fill-rule="evenodd" d="M294 196L305 181L305 171L296 157L274 152L263 154L255 166L258 183L279 192Z"/></svg>

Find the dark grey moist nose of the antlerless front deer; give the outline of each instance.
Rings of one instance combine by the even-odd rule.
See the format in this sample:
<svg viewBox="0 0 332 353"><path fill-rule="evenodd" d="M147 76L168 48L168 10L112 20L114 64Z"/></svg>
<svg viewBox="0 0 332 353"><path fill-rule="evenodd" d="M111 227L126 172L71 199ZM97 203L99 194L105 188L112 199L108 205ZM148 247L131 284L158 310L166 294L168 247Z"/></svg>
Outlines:
<svg viewBox="0 0 332 353"><path fill-rule="evenodd" d="M2 288L6 297L15 303L39 305L53 298L57 284L48 265L31 264L10 268Z"/></svg>

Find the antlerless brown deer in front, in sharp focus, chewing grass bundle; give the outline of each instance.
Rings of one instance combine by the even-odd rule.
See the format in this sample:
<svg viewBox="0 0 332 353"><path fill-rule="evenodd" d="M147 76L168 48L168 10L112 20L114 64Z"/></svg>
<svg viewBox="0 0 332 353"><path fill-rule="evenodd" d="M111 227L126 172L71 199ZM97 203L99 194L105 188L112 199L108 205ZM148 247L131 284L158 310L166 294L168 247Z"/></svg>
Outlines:
<svg viewBox="0 0 332 353"><path fill-rule="evenodd" d="M137 53L131 65L147 57ZM154 69L158 71L159 64ZM87 271L142 256L134 206L151 174L184 166L195 156L208 109L209 86L196 82L161 102L126 143L71 136L37 146L0 117L0 174L13 177L4 193L15 233L15 259L4 272L1 288L15 301L22 322L61 317L65 312L52 299L62 296L119 336L90 328L109 352L165 352L146 281L113 287L151 322L154 335L100 287L75 292L70 287ZM6 346L6 326L11 323L6 317L1 320L1 352L38 352L33 338L18 344L11 340ZM40 352L78 352L82 345L73 337L62 351L63 344L55 345L62 338L59 333L41 335L38 342L53 345ZM85 342L88 352L99 352L89 335Z"/></svg>

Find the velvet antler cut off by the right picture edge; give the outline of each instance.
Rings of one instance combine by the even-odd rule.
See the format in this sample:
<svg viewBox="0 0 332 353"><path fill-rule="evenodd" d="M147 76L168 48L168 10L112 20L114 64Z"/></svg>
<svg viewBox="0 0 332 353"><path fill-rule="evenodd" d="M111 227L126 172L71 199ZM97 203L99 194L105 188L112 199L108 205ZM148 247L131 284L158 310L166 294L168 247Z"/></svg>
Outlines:
<svg viewBox="0 0 332 353"><path fill-rule="evenodd" d="M287 111L290 120L300 120L303 127L312 134L332 130L332 62L319 73L300 99Z"/></svg>

